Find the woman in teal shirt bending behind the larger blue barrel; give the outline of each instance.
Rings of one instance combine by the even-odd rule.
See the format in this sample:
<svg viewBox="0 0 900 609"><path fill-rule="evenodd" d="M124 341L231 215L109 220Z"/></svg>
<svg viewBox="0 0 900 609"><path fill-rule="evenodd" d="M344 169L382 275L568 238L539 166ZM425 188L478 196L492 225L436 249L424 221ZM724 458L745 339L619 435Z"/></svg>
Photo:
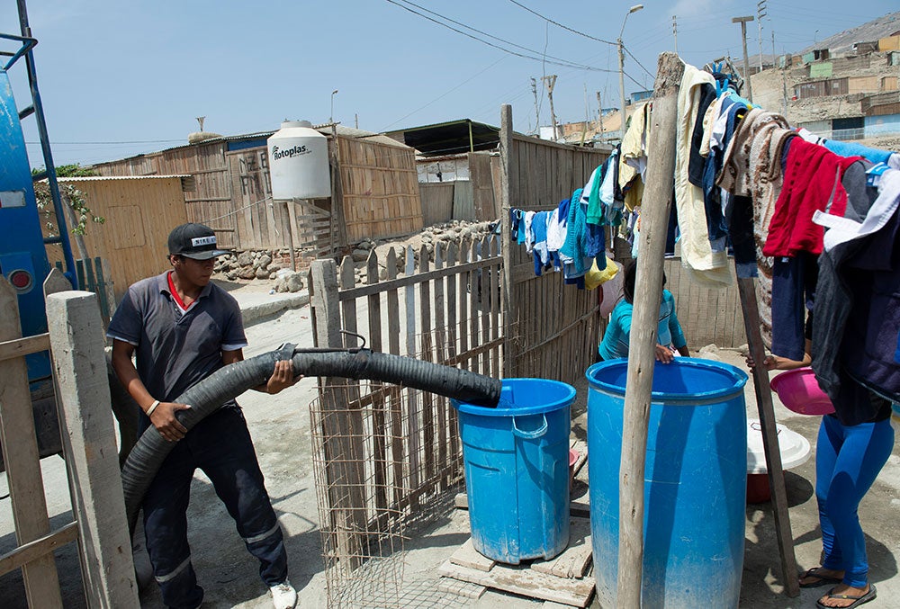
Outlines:
<svg viewBox="0 0 900 609"><path fill-rule="evenodd" d="M625 267L625 285L623 291L625 298L619 300L616 308L609 318L607 331L603 334L603 341L597 348L600 360L614 360L617 357L628 357L628 341L631 335L631 315L635 308L635 276L637 274L637 261L632 260ZM662 285L666 284L665 274L662 275ZM681 331L678 315L675 313L675 297L671 291L662 291L662 303L660 304L660 322L657 328L656 359L662 363L670 363L674 354L670 345L675 347L679 354L689 357L688 341Z"/></svg>

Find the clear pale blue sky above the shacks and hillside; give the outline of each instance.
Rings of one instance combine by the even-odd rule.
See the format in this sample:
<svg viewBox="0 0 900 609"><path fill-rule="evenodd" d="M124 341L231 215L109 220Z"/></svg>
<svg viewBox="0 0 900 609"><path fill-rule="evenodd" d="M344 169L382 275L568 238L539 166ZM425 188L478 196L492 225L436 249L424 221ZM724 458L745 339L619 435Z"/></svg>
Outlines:
<svg viewBox="0 0 900 609"><path fill-rule="evenodd" d="M517 1L573 30L610 41L617 39L628 8L635 4ZM223 135L274 130L285 118L325 122L336 89L334 118L354 126L358 114L360 129L373 131L458 118L496 125L500 104L512 103L515 128L528 132L536 123L530 79L537 78L540 85L540 77L551 74L558 75L554 108L560 121L584 120L586 105L593 117L598 91L604 106L618 105L613 45L563 30L510 0L415 0L481 30L466 31L493 44L593 69L552 65L509 55L397 4L31 0L29 17L40 41L35 57L54 160L86 165L178 146L198 130L198 116L206 117L206 130ZM774 31L779 54L897 9L896 0L768 0L768 5L763 51L771 53ZM623 36L634 56L626 56L626 94L653 87L648 72L655 71L660 52L674 49L672 15L677 15L681 57L702 66L726 53L741 56L740 26L731 18L756 10L755 1L647 0L643 10L628 17ZM754 54L759 52L759 31L756 22L749 25L748 49ZM19 32L13 0L0 7L0 31ZM11 70L20 107L28 96L23 67L22 62ZM541 123L549 124L543 94L539 105ZM25 121L26 140L36 142L32 124ZM38 149L29 145L33 165L41 164Z"/></svg>

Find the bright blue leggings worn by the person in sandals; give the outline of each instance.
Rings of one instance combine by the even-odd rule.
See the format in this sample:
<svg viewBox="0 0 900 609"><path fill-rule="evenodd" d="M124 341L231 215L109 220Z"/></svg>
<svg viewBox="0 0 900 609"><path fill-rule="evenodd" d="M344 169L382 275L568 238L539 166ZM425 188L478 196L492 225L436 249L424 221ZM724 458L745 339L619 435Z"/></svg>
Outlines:
<svg viewBox="0 0 900 609"><path fill-rule="evenodd" d="M894 447L890 419L842 425L823 416L815 445L815 498L822 527L824 569L844 571L843 583L865 587L866 539L857 508Z"/></svg>

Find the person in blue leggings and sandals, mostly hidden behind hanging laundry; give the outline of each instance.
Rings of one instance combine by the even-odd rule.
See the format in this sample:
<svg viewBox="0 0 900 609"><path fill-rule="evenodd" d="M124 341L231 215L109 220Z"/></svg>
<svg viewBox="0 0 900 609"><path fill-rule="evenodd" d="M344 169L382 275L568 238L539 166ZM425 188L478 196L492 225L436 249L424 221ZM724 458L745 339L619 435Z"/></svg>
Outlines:
<svg viewBox="0 0 900 609"><path fill-rule="evenodd" d="M792 370L812 361L812 315L806 321L806 353L801 362L769 355L763 362L767 370ZM753 367L752 358L747 363ZM857 388L859 399L868 399L870 409L853 408L854 415L869 411L871 417L856 425L844 425L839 419L841 407L833 415L822 417L815 446L815 498L819 506L824 560L821 567L800 576L800 587L832 585L828 594L816 601L820 607L856 607L878 594L869 584L869 560L866 539L857 509L869 492L878 472L894 448L891 404L869 391ZM855 423L855 421L849 421Z"/></svg>

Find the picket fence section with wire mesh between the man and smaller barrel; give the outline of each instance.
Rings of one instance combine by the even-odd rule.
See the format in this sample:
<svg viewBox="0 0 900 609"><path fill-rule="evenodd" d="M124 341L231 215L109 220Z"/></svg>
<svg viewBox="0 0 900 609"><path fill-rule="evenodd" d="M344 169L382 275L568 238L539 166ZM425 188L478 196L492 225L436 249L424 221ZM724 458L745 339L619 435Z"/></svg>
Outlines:
<svg viewBox="0 0 900 609"><path fill-rule="evenodd" d="M370 255L367 285L357 285L349 258L340 267L313 264L319 345L352 349L365 337L378 351L499 374L493 241L464 240L446 254L410 248L404 257ZM463 481L455 408L425 391L331 378L321 381L311 419L329 605L409 606L401 590L406 535L445 514Z"/></svg>

